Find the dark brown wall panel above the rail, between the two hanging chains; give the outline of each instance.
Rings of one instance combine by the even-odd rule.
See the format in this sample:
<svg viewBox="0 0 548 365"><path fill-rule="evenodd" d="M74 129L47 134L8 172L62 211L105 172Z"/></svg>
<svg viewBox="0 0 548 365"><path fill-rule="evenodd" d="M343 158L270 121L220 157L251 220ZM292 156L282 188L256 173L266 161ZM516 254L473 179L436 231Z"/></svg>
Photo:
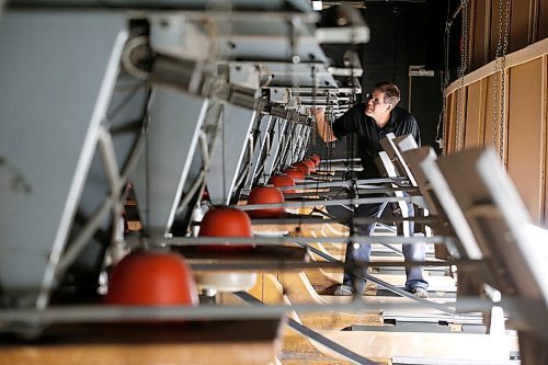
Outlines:
<svg viewBox="0 0 548 365"><path fill-rule="evenodd" d="M489 61L491 0L476 0L472 4L470 69L476 70Z"/></svg>

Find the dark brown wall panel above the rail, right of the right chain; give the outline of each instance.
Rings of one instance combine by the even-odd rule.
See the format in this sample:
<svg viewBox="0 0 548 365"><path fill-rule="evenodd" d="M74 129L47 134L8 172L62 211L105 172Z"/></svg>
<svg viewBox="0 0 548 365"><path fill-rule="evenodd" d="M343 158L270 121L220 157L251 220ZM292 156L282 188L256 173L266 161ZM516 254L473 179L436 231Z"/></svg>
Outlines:
<svg viewBox="0 0 548 365"><path fill-rule="evenodd" d="M529 34L533 28L530 15L535 1L537 0L512 1L509 52L522 49L529 44Z"/></svg>

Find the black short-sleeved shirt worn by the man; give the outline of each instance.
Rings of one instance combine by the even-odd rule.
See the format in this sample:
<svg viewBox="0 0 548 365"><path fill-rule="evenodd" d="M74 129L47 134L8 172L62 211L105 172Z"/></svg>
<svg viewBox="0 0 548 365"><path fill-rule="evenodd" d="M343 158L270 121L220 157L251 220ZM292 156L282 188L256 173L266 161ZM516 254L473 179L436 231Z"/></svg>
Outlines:
<svg viewBox="0 0 548 365"><path fill-rule="evenodd" d="M358 104L341 115L333 123L333 135L336 139L341 139L347 134L355 133L364 168L361 178L377 179L380 178L380 172L375 166L375 159L383 150L379 140L389 133L393 133L396 137L412 135L416 144L421 146L421 134L414 116L404 109L395 107L390 114L390 121L379 128L374 118L365 115L366 106L366 104Z"/></svg>

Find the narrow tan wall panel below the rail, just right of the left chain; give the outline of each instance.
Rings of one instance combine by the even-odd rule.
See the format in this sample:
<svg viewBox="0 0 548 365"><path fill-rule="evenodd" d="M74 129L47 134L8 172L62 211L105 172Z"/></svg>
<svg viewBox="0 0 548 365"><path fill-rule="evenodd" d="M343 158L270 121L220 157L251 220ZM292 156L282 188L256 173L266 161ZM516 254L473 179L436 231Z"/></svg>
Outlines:
<svg viewBox="0 0 548 365"><path fill-rule="evenodd" d="M483 103L481 100L481 80L468 85L466 103L465 148L483 145Z"/></svg>

